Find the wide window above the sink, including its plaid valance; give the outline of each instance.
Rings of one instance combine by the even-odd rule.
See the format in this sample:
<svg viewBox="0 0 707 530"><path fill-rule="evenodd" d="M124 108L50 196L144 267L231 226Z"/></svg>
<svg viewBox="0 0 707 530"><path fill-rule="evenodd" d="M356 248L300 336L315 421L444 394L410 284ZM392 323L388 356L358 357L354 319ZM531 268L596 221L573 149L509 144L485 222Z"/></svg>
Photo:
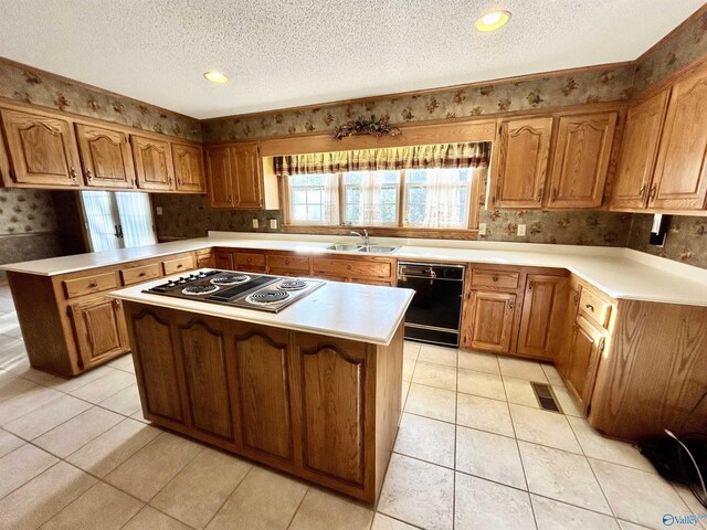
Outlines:
<svg viewBox="0 0 707 530"><path fill-rule="evenodd" d="M488 148L440 144L276 157L289 199L285 222L464 230L478 213Z"/></svg>

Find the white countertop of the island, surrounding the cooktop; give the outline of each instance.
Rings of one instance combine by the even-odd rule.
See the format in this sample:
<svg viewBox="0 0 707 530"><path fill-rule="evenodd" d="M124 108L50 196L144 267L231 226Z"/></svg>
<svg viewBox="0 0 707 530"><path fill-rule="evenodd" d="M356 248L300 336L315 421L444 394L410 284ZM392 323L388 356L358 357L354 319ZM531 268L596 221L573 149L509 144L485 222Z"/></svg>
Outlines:
<svg viewBox="0 0 707 530"><path fill-rule="evenodd" d="M166 283L170 277L177 278L179 275L127 287L108 296L211 317L387 346L414 295L412 289L325 282L309 295L273 314L143 293L144 289Z"/></svg>

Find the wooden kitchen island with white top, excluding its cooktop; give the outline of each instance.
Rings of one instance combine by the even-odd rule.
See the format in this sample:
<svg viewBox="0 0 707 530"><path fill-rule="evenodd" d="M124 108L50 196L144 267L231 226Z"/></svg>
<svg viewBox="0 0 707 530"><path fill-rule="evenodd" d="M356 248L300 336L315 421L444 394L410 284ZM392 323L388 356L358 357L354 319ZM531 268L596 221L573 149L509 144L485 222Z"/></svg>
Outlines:
<svg viewBox="0 0 707 530"><path fill-rule="evenodd" d="M277 314L159 296L122 300L147 420L367 502L401 414L413 292L326 282Z"/></svg>

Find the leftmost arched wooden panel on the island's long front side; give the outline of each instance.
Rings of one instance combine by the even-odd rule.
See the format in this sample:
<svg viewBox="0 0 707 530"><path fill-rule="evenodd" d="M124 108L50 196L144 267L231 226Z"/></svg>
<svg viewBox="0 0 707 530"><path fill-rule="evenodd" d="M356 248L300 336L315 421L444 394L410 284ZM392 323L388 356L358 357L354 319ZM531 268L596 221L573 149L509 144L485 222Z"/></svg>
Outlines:
<svg viewBox="0 0 707 530"><path fill-rule="evenodd" d="M129 315L128 328L143 411L168 425L186 424L178 351L169 319L149 309Z"/></svg>

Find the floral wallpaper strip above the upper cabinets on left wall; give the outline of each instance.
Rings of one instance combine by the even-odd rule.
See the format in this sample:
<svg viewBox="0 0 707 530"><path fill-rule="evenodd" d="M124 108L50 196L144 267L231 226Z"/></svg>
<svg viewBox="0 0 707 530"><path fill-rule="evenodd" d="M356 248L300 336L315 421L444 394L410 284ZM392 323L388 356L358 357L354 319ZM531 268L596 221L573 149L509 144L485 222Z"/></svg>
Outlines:
<svg viewBox="0 0 707 530"><path fill-rule="evenodd" d="M0 57L0 96L151 130L201 139L198 119Z"/></svg>

